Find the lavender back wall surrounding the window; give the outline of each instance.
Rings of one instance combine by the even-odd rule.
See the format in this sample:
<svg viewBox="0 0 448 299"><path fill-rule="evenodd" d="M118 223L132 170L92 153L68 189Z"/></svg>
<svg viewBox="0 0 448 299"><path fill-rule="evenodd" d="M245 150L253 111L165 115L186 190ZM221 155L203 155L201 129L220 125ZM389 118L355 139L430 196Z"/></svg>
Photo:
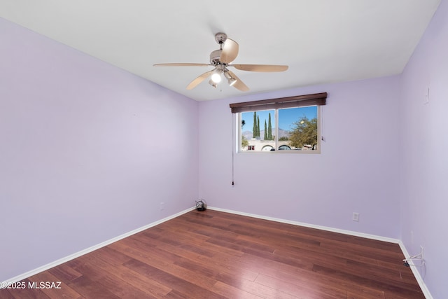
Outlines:
<svg viewBox="0 0 448 299"><path fill-rule="evenodd" d="M392 76L201 102L200 197L222 209L398 238L398 83ZM232 186L229 104L316 92L328 92L322 153L237 153Z"/></svg>

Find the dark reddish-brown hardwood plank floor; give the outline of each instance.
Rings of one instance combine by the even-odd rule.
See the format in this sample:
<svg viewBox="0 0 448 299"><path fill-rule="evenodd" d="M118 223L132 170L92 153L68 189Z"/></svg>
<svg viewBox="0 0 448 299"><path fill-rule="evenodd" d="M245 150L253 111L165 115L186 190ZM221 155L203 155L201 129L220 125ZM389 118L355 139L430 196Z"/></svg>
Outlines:
<svg viewBox="0 0 448 299"><path fill-rule="evenodd" d="M403 258L398 244L191 211L0 298L424 298ZM29 288L33 281L61 284Z"/></svg>

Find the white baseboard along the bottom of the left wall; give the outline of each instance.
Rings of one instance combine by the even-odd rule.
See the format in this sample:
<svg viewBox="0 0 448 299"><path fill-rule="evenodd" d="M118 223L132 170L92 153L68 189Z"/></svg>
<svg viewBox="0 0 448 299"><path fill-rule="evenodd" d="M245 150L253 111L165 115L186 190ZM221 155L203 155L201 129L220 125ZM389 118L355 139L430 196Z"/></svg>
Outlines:
<svg viewBox="0 0 448 299"><path fill-rule="evenodd" d="M69 256L66 256L66 257L64 257L64 258L60 258L59 260L55 260L55 261L52 262L52 263L48 263L48 264L43 265L43 266L41 266L41 267L38 267L38 268L36 268L36 269L34 269L34 270L25 272L25 273L23 273L23 274L20 274L20 275L18 275L18 276L16 276L16 277L13 277L13 278L8 279L8 280L6 280L6 281L1 281L1 282L0 282L0 288L3 288L4 286L8 286L8 285L13 284L13 283L18 282L18 281L21 281L22 279L26 279L26 278L28 278L28 277L31 277L31 276L33 276L33 275L35 275L35 274L38 274L38 273L43 272L43 271L45 271L45 270L48 270L48 269L50 269L50 268L52 268L52 267L56 267L57 265L61 265L61 264L63 264L63 263L66 263L66 262L68 262L69 260L73 260L74 258L78 258L78 257L80 257L80 256L83 256L83 255L85 255L85 254L87 254L87 253L90 253L90 252L92 252L92 251L94 251L94 250L97 250L97 249L100 249L100 248L102 248L102 247L104 247L104 246L107 246L107 245L109 245L109 244L112 244L113 242L117 242L117 241L119 241L120 239L124 239L125 237L129 237L129 236L131 236L131 235L137 234L137 232L141 232L141 231L146 230L146 229L148 229L148 228L152 228L152 227L155 226L155 225L158 225L158 224L163 223L163 222L165 222L165 221L169 221L169 220L171 220L172 218L176 218L176 217L178 217L178 216L181 216L181 215L183 215L183 214L186 214L186 213L188 213L189 211L193 211L194 209L195 209L195 207L192 207L192 208L189 208L189 209L180 211L179 213L176 213L176 214L174 214L174 215L172 215L172 216L168 216L168 217L166 217L166 218L160 219L160 220L155 221L155 222L153 222L153 223L150 223L150 224L148 224L148 225L142 226L141 228L137 228L137 229L132 230L132 231L130 231L130 232L126 232L126 233L123 234L123 235L120 235L120 236L118 236L118 237L114 237L114 238L112 238L112 239L109 239L109 240L107 240L107 241L104 241L104 242L102 242L102 243L99 243L99 244L97 244L97 245L94 245L94 246L89 247L89 248L87 248L87 249L83 249L83 250L78 251L78 252L76 252L76 253L73 253L73 254L71 254L71 255L69 255Z"/></svg>

